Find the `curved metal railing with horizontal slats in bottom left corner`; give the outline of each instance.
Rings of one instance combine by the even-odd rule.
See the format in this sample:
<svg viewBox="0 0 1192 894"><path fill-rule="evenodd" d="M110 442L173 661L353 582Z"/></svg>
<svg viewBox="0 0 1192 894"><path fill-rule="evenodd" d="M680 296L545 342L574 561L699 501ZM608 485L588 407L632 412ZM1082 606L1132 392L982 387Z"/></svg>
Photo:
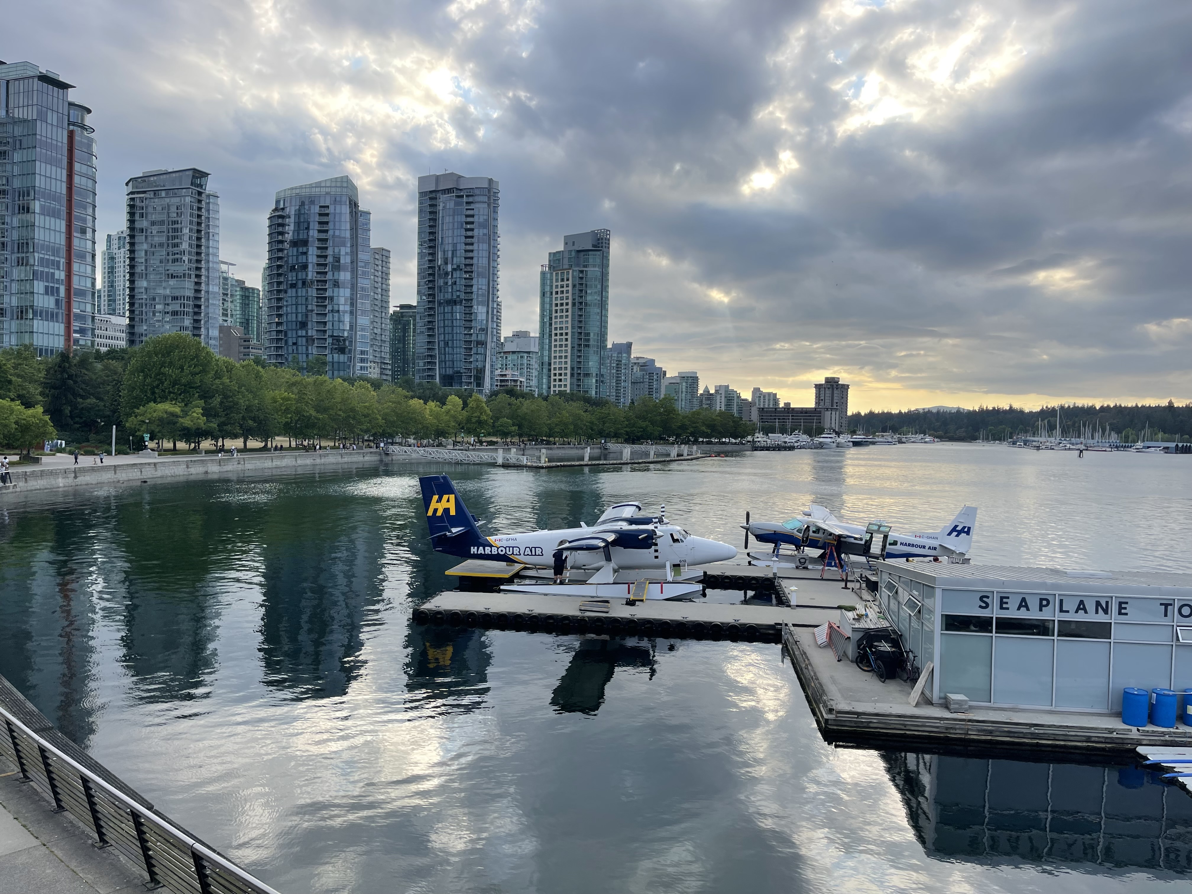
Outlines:
<svg viewBox="0 0 1192 894"><path fill-rule="evenodd" d="M54 803L116 850L150 887L178 894L278 894L230 859L108 783L0 704L0 756Z"/></svg>

